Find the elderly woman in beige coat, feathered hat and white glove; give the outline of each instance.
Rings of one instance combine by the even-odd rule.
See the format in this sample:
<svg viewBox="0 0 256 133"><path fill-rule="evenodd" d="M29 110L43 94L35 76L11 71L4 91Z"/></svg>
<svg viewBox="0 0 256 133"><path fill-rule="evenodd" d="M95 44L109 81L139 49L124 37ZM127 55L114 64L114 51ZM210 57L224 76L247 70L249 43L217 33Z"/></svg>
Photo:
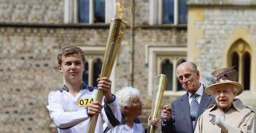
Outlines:
<svg viewBox="0 0 256 133"><path fill-rule="evenodd" d="M243 91L236 78L237 71L233 67L206 75L209 86L205 92L215 96L216 105L210 105L198 118L194 133L256 133L253 107L235 99Z"/></svg>

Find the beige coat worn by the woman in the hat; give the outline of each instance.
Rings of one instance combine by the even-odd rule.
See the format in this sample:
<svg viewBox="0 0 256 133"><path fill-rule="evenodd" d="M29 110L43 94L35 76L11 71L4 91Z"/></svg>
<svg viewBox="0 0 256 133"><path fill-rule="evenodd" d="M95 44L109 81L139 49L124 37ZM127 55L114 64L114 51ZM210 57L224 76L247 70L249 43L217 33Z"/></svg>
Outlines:
<svg viewBox="0 0 256 133"><path fill-rule="evenodd" d="M223 112L217 105L210 105L198 118L194 133L222 133L209 121L209 113L218 115L227 124L229 133L256 133L256 116L252 106L235 99Z"/></svg>

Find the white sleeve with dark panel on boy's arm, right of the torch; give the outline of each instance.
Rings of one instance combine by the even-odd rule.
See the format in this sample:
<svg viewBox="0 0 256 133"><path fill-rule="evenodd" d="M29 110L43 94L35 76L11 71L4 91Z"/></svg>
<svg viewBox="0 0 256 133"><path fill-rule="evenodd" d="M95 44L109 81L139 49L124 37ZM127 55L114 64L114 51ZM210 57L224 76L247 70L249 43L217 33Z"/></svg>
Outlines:
<svg viewBox="0 0 256 133"><path fill-rule="evenodd" d="M104 98L104 110L102 113L103 119L109 128L115 127L121 122L122 115L118 108L115 95L113 95L113 101L111 102L106 102Z"/></svg>

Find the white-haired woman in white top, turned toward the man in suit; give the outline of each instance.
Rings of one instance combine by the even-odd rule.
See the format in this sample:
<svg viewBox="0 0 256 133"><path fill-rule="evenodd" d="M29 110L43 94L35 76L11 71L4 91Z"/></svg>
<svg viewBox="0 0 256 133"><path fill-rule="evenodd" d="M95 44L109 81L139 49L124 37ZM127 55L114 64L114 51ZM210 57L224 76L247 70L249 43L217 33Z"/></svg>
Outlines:
<svg viewBox="0 0 256 133"><path fill-rule="evenodd" d="M103 133L147 133L147 129L143 129L138 116L142 114L142 106L140 101L140 91L133 87L123 87L116 92L116 100L122 114L121 123L114 128L106 127ZM158 118L150 120L148 117L148 127L153 125L153 130L158 128ZM106 126L106 125L105 125Z"/></svg>

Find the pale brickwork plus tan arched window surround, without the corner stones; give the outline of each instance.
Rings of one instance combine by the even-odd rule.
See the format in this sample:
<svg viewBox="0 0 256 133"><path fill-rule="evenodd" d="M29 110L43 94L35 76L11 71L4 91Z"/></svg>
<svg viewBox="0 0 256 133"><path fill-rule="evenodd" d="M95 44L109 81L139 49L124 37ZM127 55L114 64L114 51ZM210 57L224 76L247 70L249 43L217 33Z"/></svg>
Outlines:
<svg viewBox="0 0 256 133"><path fill-rule="evenodd" d="M228 66L227 53L238 39L244 40L250 50L250 90L243 91L237 98L246 105L256 108L255 81L255 40L256 10L254 7L200 7L204 9L204 20L196 21L195 27L203 31L202 38L196 38L196 48L200 52L195 63L201 68L201 77L206 73ZM255 16L255 17L254 17ZM203 77L204 78L204 77ZM201 79L203 79L201 78ZM240 81L241 82L241 81Z"/></svg>

